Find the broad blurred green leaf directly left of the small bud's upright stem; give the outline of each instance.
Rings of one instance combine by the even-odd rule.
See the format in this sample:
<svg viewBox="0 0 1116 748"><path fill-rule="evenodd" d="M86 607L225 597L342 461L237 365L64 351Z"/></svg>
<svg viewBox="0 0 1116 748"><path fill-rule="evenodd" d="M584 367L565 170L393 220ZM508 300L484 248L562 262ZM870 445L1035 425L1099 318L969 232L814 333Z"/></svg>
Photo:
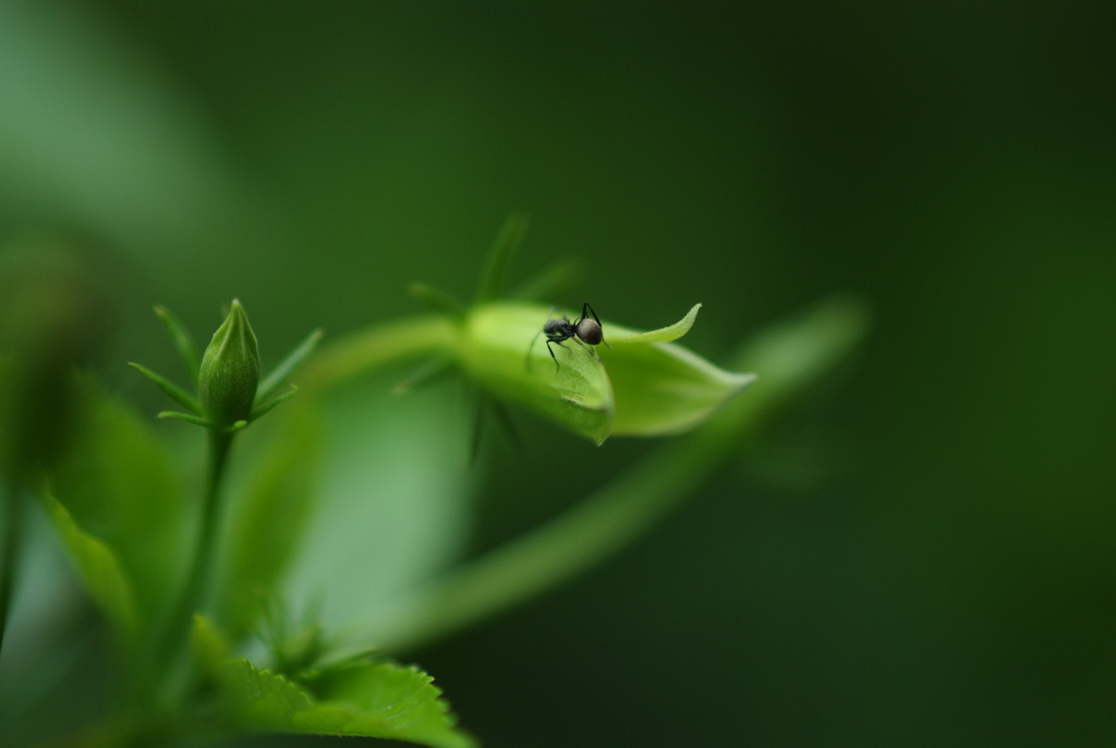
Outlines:
<svg viewBox="0 0 1116 748"><path fill-rule="evenodd" d="M147 421L83 383L85 415L73 449L50 476L50 492L83 530L118 556L151 617L173 595L181 570L183 515L170 455Z"/></svg>

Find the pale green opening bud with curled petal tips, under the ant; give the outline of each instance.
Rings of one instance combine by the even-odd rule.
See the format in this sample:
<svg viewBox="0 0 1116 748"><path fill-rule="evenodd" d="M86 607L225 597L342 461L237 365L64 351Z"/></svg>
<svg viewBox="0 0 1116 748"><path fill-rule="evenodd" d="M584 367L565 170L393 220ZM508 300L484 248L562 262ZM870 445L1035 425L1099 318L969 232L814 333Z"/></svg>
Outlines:
<svg viewBox="0 0 1116 748"><path fill-rule="evenodd" d="M708 419L756 380L671 343L689 332L700 307L674 325L647 333L606 322L604 341L610 347L570 338L552 346L551 361L539 335L547 320L545 307L485 304L469 313L459 357L464 370L498 396L598 444L610 434L677 433Z"/></svg>

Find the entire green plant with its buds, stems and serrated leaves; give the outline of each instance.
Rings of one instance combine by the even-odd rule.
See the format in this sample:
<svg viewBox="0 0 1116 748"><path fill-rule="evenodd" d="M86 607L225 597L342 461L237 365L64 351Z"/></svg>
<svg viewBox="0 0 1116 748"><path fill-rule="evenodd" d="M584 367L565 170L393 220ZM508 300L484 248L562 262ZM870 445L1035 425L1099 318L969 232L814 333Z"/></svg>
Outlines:
<svg viewBox="0 0 1116 748"><path fill-rule="evenodd" d="M501 296L521 236L518 220L506 226L472 305L419 288L436 314L376 325L320 352L312 333L262 381L256 334L238 301L201 355L185 327L157 308L196 393L133 366L184 409L161 415L204 429L206 478L196 506L184 498L189 481L179 478L174 452L144 419L88 377L62 371L59 346L70 342L48 334L57 325L31 326L29 337L15 326L2 371L9 406L0 431L7 512L0 602L7 608L22 505L33 497L103 617L114 683L87 720L61 736L33 737L127 746L275 731L474 745L431 677L391 655L538 595L623 547L820 380L863 329L857 305L834 300L754 338L733 366L762 373L761 397L737 397L753 375L716 367L674 343L700 305L657 330L606 323L610 349L570 344L555 371L543 346L528 353L547 308ZM288 579L301 530L320 509L316 495L336 464L330 458L353 442L338 413L363 396L356 384L416 359L426 363L397 390L456 370L485 407L518 403L596 444L612 435L681 435L557 519L330 627L290 603ZM247 445L239 474L231 474L234 442L291 399L294 389L279 393L296 373L300 396L282 418L252 429L268 433ZM66 443L52 440L50 429L31 438L44 433L44 418L68 432ZM436 462L431 458L435 469ZM371 479L372 488L388 491L378 480ZM44 690L61 690L47 670L32 669L33 677Z"/></svg>

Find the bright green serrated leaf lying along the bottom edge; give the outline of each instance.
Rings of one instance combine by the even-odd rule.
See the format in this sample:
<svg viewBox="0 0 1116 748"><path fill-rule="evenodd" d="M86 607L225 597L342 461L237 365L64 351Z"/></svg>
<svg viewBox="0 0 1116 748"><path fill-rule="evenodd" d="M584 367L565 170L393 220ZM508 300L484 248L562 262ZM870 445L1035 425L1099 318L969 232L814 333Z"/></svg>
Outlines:
<svg viewBox="0 0 1116 748"><path fill-rule="evenodd" d="M363 736L433 748L470 748L433 679L387 662L346 663L305 685L257 670L248 660L225 663L221 691L233 727L250 731Z"/></svg>

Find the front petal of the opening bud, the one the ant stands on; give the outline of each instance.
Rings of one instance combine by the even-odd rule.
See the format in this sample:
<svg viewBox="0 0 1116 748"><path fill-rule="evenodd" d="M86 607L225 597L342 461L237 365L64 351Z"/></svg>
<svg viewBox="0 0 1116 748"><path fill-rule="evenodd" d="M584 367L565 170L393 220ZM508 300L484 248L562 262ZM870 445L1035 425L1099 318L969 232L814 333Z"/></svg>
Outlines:
<svg viewBox="0 0 1116 748"><path fill-rule="evenodd" d="M546 320L547 310L539 306L477 307L461 336L461 363L493 394L527 405L600 444L613 430L608 373L591 349L571 341L554 346L556 371L545 342L536 339Z"/></svg>

